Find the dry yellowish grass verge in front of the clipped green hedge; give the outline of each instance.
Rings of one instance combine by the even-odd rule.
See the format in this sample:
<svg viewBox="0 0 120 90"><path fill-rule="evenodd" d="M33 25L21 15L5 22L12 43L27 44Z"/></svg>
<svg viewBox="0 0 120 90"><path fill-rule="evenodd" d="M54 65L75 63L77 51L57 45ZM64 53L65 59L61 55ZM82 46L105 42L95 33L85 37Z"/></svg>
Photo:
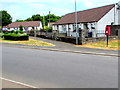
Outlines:
<svg viewBox="0 0 120 90"><path fill-rule="evenodd" d="M4 39L0 38L0 42L2 42L2 43L23 44L23 45L34 45L34 46L55 46L51 43L38 41L38 40L34 40L34 39L29 39L27 41L12 41L12 40L4 40Z"/></svg>

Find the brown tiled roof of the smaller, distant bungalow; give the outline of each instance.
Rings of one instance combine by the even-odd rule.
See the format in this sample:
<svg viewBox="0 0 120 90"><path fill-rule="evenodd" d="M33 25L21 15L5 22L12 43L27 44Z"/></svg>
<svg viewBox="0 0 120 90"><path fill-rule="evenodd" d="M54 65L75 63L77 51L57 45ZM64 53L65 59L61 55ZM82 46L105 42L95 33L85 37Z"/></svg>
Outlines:
<svg viewBox="0 0 120 90"><path fill-rule="evenodd" d="M16 27L38 27L40 26L40 21L26 21L26 22L13 22L8 25L9 28L16 28Z"/></svg>

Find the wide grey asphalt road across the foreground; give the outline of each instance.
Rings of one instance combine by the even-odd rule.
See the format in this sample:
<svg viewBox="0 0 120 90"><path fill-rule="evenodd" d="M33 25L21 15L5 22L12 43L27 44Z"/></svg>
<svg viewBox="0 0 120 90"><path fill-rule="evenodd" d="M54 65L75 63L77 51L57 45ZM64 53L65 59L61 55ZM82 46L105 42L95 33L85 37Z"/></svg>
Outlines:
<svg viewBox="0 0 120 90"><path fill-rule="evenodd" d="M2 76L38 88L117 88L118 58L2 48Z"/></svg>

